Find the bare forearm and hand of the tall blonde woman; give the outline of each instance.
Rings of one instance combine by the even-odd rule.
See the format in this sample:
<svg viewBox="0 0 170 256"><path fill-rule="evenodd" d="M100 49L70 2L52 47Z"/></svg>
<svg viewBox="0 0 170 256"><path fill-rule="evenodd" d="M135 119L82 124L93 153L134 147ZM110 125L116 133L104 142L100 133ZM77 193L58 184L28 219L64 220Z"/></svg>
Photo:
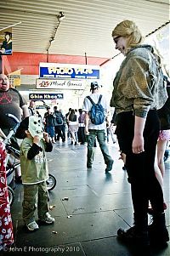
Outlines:
<svg viewBox="0 0 170 256"><path fill-rule="evenodd" d="M133 137L133 153L139 154L144 151L144 125L146 119L135 116L134 121L134 137Z"/></svg>

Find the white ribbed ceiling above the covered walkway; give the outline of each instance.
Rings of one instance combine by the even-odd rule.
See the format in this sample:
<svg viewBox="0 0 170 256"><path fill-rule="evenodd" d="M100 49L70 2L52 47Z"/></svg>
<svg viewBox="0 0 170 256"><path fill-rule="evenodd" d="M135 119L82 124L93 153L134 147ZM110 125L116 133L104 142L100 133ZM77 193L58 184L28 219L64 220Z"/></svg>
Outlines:
<svg viewBox="0 0 170 256"><path fill-rule="evenodd" d="M14 52L111 58L117 54L111 31L133 20L144 35L169 20L169 0L0 0L0 29L13 28ZM59 24L62 11L65 19Z"/></svg>

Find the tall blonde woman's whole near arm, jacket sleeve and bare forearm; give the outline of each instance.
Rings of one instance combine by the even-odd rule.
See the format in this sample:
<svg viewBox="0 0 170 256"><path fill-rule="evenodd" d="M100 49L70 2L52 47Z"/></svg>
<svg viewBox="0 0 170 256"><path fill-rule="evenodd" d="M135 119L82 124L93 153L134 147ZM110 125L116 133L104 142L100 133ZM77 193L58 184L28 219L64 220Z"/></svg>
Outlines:
<svg viewBox="0 0 170 256"><path fill-rule="evenodd" d="M143 133L147 113L155 100L155 91L151 86L154 77L148 59L135 55L128 60L126 77L127 98L133 99L135 115L132 150L134 154L139 154L144 151Z"/></svg>

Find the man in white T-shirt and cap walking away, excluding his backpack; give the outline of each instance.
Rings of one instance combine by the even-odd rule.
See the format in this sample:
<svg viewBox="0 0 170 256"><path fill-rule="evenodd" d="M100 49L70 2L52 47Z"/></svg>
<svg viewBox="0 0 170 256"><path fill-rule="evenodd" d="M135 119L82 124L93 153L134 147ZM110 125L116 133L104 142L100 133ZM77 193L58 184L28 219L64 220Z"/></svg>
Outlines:
<svg viewBox="0 0 170 256"><path fill-rule="evenodd" d="M92 110L92 107L93 107L91 100L93 100L94 103L97 104L100 99L100 105L102 105L103 107L105 117L107 115L107 110L108 110L107 100L103 95L99 94L98 82L91 82L90 91L92 92L92 94L90 94L88 97L84 99L83 107L82 107L82 111L85 111L85 134L88 135L87 136L87 141L88 141L87 168L92 168L92 164L94 162L94 141L95 141L95 138L97 138L99 142L99 147L105 159L105 164L106 164L105 172L110 172L113 165L113 159L111 158L108 147L106 145L105 118L102 121L102 123L100 122L99 124L93 123L92 119L90 118L90 111Z"/></svg>

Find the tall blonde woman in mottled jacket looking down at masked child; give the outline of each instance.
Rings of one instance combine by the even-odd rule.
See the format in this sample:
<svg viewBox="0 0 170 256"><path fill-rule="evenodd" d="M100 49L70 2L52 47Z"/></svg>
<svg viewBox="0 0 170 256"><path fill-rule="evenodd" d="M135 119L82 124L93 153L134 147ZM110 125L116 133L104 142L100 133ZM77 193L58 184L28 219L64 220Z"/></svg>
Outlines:
<svg viewBox="0 0 170 256"><path fill-rule="evenodd" d="M142 35L131 20L112 31L113 41L126 58L113 82L111 106L116 107L116 134L126 154L128 182L131 185L134 225L119 229L123 242L162 244L169 240L163 208L163 193L156 179L154 162L160 124L156 109L167 100L161 68L150 45L141 45ZM148 226L148 203L153 223Z"/></svg>

